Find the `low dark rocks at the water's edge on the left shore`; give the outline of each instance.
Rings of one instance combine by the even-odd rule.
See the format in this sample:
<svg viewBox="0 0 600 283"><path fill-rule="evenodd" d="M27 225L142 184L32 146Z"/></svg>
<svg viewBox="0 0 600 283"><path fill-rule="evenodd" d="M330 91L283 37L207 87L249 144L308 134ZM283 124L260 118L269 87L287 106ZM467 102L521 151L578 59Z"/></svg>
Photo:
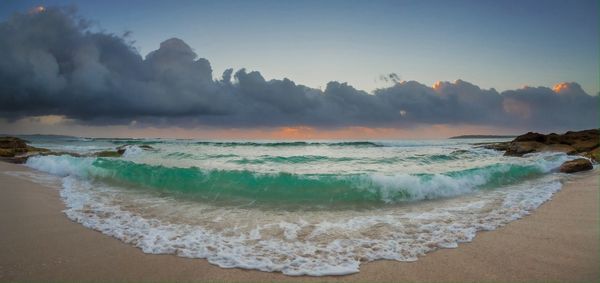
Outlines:
<svg viewBox="0 0 600 283"><path fill-rule="evenodd" d="M122 145L115 150L105 150L94 152L87 155L81 155L73 152L57 152L45 148L33 147L28 145L28 141L17 137L0 137L0 161L10 163L25 163L27 159L35 155L71 155L75 157L95 156L95 157L121 157L131 145ZM149 145L138 146L144 150L153 150Z"/></svg>

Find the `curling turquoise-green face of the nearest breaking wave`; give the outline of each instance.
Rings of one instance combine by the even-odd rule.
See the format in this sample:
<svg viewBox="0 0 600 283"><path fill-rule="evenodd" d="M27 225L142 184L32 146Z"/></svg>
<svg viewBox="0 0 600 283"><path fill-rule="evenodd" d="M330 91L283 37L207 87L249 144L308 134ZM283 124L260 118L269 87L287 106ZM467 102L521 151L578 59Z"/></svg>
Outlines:
<svg viewBox="0 0 600 283"><path fill-rule="evenodd" d="M98 158L85 174L96 179L204 199L306 204L394 203L465 194L539 176L535 165L494 164L444 174L264 174L202 170Z"/></svg>

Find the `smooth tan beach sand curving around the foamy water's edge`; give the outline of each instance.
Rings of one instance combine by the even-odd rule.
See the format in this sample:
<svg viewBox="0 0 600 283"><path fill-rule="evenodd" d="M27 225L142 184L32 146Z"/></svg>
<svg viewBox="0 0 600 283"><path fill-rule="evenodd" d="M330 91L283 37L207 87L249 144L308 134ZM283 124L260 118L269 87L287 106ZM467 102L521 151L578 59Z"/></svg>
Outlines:
<svg viewBox="0 0 600 283"><path fill-rule="evenodd" d="M4 174L0 281L585 281L600 278L598 170L581 174L532 215L417 262L376 261L348 276L289 277L149 255L71 222L58 191Z"/></svg>

